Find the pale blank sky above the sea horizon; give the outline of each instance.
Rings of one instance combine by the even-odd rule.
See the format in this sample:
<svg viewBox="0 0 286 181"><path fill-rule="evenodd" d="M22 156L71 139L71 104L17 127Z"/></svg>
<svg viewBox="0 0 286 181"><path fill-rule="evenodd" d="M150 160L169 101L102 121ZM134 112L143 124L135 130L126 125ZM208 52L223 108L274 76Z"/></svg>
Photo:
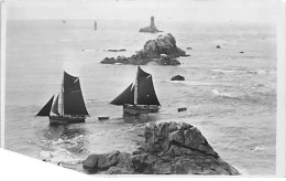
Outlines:
<svg viewBox="0 0 286 181"><path fill-rule="evenodd" d="M7 19L273 22L278 0L7 0Z"/></svg>

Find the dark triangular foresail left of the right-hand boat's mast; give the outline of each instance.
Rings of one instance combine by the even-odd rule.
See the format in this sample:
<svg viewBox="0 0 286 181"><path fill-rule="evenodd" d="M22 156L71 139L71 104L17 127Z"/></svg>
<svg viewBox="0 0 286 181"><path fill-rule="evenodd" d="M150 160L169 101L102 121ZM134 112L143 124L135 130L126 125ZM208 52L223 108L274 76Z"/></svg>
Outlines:
<svg viewBox="0 0 286 181"><path fill-rule="evenodd" d="M124 105L124 104L134 104L134 86L130 86L124 89L117 98L110 102L112 105Z"/></svg>

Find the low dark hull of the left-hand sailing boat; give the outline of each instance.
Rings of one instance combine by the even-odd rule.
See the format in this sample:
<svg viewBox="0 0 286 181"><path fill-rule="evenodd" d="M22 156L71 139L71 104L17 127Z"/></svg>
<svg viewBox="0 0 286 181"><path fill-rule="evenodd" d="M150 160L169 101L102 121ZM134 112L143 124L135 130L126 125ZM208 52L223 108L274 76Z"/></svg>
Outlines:
<svg viewBox="0 0 286 181"><path fill-rule="evenodd" d="M86 117L62 117L62 116L50 116L50 125L68 125L85 123Z"/></svg>

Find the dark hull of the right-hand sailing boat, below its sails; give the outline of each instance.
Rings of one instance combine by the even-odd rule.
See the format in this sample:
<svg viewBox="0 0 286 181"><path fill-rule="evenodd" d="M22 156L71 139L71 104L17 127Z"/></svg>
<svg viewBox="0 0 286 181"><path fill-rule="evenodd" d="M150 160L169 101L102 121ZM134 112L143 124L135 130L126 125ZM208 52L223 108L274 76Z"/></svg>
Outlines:
<svg viewBox="0 0 286 181"><path fill-rule="evenodd" d="M161 107L156 105L124 105L123 113L130 115L157 113Z"/></svg>

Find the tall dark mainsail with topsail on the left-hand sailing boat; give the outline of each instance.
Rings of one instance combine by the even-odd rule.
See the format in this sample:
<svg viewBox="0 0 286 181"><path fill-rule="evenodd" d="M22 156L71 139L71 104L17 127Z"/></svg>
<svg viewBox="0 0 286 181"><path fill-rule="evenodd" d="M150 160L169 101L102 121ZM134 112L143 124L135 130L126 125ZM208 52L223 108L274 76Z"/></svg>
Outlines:
<svg viewBox="0 0 286 181"><path fill-rule="evenodd" d="M88 115L79 78L64 73L64 114Z"/></svg>

